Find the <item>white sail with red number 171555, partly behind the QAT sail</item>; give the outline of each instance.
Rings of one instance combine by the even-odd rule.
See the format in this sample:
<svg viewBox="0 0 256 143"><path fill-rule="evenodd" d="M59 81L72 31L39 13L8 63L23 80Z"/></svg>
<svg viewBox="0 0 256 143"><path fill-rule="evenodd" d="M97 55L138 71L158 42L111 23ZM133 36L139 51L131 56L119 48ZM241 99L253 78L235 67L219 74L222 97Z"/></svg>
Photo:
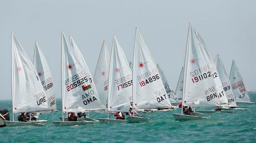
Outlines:
<svg viewBox="0 0 256 143"><path fill-rule="evenodd" d="M128 111L132 102L132 75L125 53L113 38L109 64L108 109Z"/></svg>

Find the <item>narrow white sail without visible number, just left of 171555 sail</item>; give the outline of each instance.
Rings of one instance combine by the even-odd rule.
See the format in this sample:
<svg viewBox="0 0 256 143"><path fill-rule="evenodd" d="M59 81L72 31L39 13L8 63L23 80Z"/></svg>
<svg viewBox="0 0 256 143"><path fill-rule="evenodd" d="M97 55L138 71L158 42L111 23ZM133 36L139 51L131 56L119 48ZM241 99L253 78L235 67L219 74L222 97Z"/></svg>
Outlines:
<svg viewBox="0 0 256 143"><path fill-rule="evenodd" d="M110 56L107 50L105 40L103 41L93 81L99 94L100 103L107 108L107 91L109 80L109 62Z"/></svg>

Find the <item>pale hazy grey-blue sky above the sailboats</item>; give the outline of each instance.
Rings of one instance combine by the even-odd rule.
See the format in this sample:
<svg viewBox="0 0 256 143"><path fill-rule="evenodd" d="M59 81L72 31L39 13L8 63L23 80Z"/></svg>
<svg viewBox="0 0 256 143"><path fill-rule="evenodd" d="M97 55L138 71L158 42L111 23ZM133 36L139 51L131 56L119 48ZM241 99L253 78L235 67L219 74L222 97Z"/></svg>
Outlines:
<svg viewBox="0 0 256 143"><path fill-rule="evenodd" d="M234 59L246 87L255 90L255 0L0 0L0 99L11 99L11 32L31 60L38 42L60 98L61 31L73 37L93 75L103 39L110 52L114 34L132 61L138 27L175 90L189 22L211 56L219 52L228 74Z"/></svg>

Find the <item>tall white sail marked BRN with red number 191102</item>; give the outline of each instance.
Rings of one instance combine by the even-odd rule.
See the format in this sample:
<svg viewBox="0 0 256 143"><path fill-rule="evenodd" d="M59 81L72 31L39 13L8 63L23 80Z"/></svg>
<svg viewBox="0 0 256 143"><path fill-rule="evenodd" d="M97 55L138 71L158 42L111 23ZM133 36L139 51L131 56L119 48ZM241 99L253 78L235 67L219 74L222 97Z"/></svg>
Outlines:
<svg viewBox="0 0 256 143"><path fill-rule="evenodd" d="M184 64L182 103L189 106L220 106L226 97L218 72L189 24Z"/></svg>

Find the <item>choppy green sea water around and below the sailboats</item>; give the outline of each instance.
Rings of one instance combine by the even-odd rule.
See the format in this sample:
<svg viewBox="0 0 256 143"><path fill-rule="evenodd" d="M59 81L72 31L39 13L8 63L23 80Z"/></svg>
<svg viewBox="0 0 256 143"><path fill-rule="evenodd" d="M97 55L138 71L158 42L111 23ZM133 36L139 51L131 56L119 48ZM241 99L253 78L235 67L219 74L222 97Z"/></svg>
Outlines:
<svg viewBox="0 0 256 143"><path fill-rule="evenodd" d="M256 93L250 93L251 101L256 101ZM0 142L256 142L255 104L239 104L246 111L236 113L206 114L208 120L175 121L175 111L159 111L144 116L152 118L147 123L135 124L90 124L86 126L55 127L52 121L59 121L61 100L57 100L60 110L51 116L43 127L17 126L0 128ZM0 101L0 108L12 111L12 103ZM95 119L104 114L90 113ZM140 113L142 115L143 113ZM96 116L95 116L96 115ZM159 116L157 116L159 115ZM12 119L12 113L10 113ZM40 115L40 119L49 114ZM127 116L127 115L126 115ZM157 116L156 118L154 118ZM17 118L17 116L16 116Z"/></svg>

